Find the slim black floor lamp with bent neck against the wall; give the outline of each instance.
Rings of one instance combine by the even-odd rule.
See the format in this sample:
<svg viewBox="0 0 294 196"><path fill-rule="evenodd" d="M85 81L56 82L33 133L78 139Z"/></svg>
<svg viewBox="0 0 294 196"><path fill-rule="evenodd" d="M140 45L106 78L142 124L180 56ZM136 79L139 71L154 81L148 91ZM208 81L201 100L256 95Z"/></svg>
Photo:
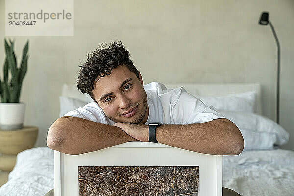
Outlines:
<svg viewBox="0 0 294 196"><path fill-rule="evenodd" d="M277 123L279 123L279 103L280 103L280 43L277 37L277 34L274 31L273 25L270 23L269 20L269 12L263 12L259 19L260 25L268 25L270 24L270 28L272 30L273 36L276 40L277 47L278 47L278 81L277 81Z"/></svg>

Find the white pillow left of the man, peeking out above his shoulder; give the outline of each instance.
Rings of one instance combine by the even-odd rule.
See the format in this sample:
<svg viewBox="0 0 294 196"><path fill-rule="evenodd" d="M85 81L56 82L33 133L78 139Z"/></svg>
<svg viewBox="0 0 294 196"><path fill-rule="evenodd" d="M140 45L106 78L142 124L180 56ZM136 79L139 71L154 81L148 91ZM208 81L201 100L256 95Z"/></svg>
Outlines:
<svg viewBox="0 0 294 196"><path fill-rule="evenodd" d="M75 110L79 107L83 107L87 103L88 102L85 102L76 98L59 96L59 117L62 117L69 111Z"/></svg>

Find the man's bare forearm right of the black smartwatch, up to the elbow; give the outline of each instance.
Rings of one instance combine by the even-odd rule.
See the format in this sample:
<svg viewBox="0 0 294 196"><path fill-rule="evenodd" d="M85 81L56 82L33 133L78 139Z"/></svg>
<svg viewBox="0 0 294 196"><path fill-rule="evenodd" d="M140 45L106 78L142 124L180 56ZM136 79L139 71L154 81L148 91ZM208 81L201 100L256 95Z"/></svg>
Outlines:
<svg viewBox="0 0 294 196"><path fill-rule="evenodd" d="M169 146L215 155L236 155L241 153L244 147L238 127L234 123L220 120L187 125L162 125L156 129L156 139L159 143Z"/></svg>

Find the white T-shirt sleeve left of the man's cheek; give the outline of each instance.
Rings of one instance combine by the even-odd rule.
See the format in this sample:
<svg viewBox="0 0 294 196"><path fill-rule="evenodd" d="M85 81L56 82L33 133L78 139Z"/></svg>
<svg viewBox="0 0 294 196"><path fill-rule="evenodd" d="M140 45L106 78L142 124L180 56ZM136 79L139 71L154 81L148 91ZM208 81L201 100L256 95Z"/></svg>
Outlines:
<svg viewBox="0 0 294 196"><path fill-rule="evenodd" d="M102 109L95 105L95 102L88 103L83 107L69 111L63 116L79 117L97 123L108 124L105 114Z"/></svg>

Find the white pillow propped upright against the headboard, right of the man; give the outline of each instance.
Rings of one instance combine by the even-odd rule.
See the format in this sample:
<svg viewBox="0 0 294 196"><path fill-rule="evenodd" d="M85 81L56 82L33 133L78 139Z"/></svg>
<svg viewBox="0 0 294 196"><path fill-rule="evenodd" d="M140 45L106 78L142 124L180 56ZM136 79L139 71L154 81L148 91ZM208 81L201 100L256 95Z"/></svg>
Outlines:
<svg viewBox="0 0 294 196"><path fill-rule="evenodd" d="M254 113L256 91L248 91L240 94L225 96L198 96L207 106L212 105L216 110L239 111Z"/></svg>

